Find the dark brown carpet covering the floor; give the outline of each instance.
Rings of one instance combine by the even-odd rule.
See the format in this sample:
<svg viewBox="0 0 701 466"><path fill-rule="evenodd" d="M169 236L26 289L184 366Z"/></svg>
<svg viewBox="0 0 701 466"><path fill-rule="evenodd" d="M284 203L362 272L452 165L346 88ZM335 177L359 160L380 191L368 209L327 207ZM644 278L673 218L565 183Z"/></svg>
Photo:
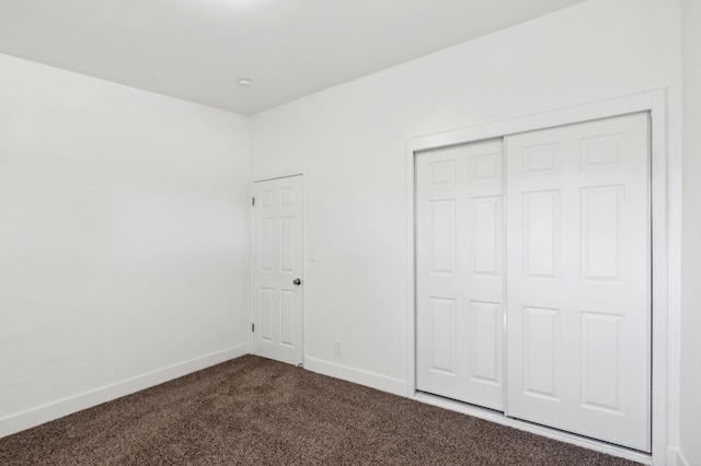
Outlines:
<svg viewBox="0 0 701 466"><path fill-rule="evenodd" d="M0 465L633 465L246 356L0 439Z"/></svg>

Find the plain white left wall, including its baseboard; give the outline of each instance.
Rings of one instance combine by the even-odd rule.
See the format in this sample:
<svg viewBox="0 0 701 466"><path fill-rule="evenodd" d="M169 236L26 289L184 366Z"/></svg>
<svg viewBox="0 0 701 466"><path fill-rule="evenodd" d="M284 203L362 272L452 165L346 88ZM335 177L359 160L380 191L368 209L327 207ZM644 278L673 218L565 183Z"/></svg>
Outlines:
<svg viewBox="0 0 701 466"><path fill-rule="evenodd" d="M248 140L0 56L0 436L246 352Z"/></svg>

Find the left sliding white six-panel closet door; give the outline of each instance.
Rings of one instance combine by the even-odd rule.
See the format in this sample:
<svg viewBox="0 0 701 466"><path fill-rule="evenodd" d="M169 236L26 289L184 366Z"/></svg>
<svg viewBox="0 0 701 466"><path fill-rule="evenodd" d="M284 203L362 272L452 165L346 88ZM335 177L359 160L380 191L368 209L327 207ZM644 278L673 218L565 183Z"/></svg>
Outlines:
<svg viewBox="0 0 701 466"><path fill-rule="evenodd" d="M502 410L502 141L416 156L416 388Z"/></svg>

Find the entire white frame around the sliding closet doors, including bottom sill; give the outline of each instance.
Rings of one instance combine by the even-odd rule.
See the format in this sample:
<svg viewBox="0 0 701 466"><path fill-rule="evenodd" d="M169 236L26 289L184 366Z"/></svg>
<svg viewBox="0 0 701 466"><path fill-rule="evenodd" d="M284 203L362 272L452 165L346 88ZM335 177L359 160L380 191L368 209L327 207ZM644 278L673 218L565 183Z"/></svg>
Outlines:
<svg viewBox="0 0 701 466"><path fill-rule="evenodd" d="M550 428L507 418L493 411L446 401L416 393L416 296L415 296L415 158L421 152L450 145L501 138L518 132L584 123L587 120L648 112L651 115L651 210L652 210L652 455L610 445L605 442L563 433ZM676 341L679 319L679 277L670 275L680 261L678 209L681 203L680 160L670 158L668 147L667 90L657 89L639 94L561 108L552 112L472 126L453 131L411 138L406 141L406 385L407 396L471 416L481 417L517 429L627 457L645 464L664 465L671 457L668 433L674 433L674 408L669 392L677 388L679 375ZM668 170L674 166L674 171ZM670 188L674 188L671 190ZM673 293L670 293L670 290ZM676 354L676 357L675 357ZM670 386L668 386L670 385ZM670 416L671 415L671 416ZM669 453L668 453L669 450ZM669 454L669 456L668 456ZM671 459L669 461L671 463Z"/></svg>

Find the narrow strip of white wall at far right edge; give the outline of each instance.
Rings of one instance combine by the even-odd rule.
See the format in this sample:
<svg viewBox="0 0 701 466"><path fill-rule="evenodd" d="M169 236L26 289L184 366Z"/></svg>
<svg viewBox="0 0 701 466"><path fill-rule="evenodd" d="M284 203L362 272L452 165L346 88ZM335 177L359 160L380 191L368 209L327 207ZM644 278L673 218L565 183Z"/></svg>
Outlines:
<svg viewBox="0 0 701 466"><path fill-rule="evenodd" d="M681 443L701 465L701 2L682 0L683 259L681 284Z"/></svg>

